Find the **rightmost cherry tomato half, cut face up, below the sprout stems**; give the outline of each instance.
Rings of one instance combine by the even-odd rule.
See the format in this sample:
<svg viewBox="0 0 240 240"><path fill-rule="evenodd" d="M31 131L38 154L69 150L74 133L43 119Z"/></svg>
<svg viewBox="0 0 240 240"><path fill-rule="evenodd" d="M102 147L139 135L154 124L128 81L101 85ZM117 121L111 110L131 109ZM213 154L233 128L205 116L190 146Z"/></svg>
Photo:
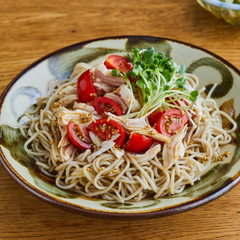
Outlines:
<svg viewBox="0 0 240 240"><path fill-rule="evenodd" d="M159 133L171 137L188 122L188 119L189 117L182 110L168 110L158 120L156 129Z"/></svg>

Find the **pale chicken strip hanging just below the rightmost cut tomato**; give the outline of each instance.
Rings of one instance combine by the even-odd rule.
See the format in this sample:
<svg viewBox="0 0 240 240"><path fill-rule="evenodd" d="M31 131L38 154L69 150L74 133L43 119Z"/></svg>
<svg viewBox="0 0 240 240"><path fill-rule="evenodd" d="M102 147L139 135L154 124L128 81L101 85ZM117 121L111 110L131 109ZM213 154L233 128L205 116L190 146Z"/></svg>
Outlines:
<svg viewBox="0 0 240 240"><path fill-rule="evenodd" d="M176 134L172 135L169 143L164 144L163 147L163 168L169 169L180 157L183 157L185 152L182 140L185 137L187 132L187 125L183 127Z"/></svg>

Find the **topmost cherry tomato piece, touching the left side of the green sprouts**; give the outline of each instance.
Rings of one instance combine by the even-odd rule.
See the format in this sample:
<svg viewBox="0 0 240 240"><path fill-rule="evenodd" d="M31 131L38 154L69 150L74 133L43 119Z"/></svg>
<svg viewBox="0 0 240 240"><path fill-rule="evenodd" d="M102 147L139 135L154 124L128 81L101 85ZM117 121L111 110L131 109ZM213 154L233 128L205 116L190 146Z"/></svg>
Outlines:
<svg viewBox="0 0 240 240"><path fill-rule="evenodd" d="M133 64L125 57L110 55L104 62L107 69L118 69L120 73L132 71Z"/></svg>

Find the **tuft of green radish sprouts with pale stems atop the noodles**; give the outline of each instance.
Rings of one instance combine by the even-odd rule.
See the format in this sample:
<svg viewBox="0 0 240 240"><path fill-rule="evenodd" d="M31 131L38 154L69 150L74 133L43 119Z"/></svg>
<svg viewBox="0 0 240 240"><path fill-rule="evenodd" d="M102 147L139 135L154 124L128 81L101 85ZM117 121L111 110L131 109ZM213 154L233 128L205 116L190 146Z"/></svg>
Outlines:
<svg viewBox="0 0 240 240"><path fill-rule="evenodd" d="M188 92L184 65L179 69L172 58L166 58L163 53L156 53L153 47L143 50L135 48L132 52L132 55L128 54L128 58L134 64L133 69L125 74L124 78L133 91L132 94L138 95L143 106L135 114L136 117L147 116L158 108L187 110L189 107L181 102L183 99L189 99L193 107L198 91ZM112 75L123 77L115 69Z"/></svg>

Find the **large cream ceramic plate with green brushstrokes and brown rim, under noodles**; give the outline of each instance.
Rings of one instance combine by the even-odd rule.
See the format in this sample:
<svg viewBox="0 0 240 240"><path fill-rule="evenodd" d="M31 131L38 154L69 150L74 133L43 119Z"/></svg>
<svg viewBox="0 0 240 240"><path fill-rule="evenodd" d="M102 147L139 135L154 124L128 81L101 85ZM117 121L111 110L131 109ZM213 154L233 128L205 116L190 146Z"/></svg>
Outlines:
<svg viewBox="0 0 240 240"><path fill-rule="evenodd" d="M101 62L107 54L126 54L131 49L153 46L157 52L172 57L186 71L196 74L200 86L208 90L217 82L213 98L220 105L234 98L240 102L240 72L230 63L199 47L157 37L123 36L97 39L60 49L23 70L3 92L0 98L1 163L8 173L30 193L55 206L76 213L99 217L147 218L165 216L190 210L216 199L229 191L239 181L240 148L239 128L236 131L236 145L226 146L233 154L225 162L215 164L194 186L179 195L161 199L145 199L140 202L120 204L97 198L86 198L63 191L39 172L34 161L23 149L24 138L17 127L18 118L24 110L35 103L36 97L46 93L46 83L52 78L67 78L76 63L83 61L90 65ZM236 104L236 121L240 122L240 105Z"/></svg>

